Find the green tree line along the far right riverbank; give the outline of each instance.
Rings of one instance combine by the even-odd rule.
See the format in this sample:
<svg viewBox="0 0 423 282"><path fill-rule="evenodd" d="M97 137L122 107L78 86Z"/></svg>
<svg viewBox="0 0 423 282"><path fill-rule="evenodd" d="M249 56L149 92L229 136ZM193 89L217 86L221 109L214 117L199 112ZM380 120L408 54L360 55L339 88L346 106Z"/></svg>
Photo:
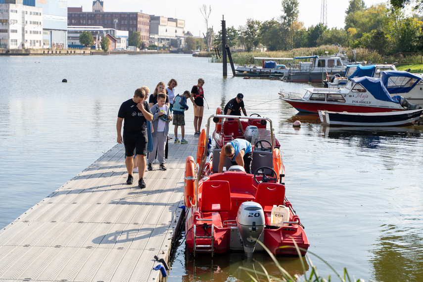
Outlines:
<svg viewBox="0 0 423 282"><path fill-rule="evenodd" d="M323 23L308 28L298 21L298 0L282 0L282 15L260 22L247 19L245 25L227 28L227 44L242 46L246 51L265 46L270 51L339 44L349 48L367 48L380 55L423 50L423 0L417 0L414 13L406 15L404 7L415 0L391 0L366 7L364 0L349 0L344 28L328 28ZM214 39L222 50L222 32Z"/></svg>

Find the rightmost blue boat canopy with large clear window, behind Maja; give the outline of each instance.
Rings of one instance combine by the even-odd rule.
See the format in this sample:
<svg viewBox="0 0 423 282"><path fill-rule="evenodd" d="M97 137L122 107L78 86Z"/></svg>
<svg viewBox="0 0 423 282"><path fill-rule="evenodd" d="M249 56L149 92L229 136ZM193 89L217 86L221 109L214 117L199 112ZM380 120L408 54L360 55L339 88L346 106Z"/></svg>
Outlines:
<svg viewBox="0 0 423 282"><path fill-rule="evenodd" d="M422 77L406 71L383 71L381 73L380 79L390 94L408 93L422 79Z"/></svg>

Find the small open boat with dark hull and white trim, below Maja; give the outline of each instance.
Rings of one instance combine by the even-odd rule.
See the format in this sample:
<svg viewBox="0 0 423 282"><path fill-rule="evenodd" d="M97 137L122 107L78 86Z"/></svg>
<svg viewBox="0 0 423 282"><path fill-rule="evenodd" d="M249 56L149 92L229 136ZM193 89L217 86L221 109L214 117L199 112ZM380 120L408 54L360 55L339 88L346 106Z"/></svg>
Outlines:
<svg viewBox="0 0 423 282"><path fill-rule="evenodd" d="M402 126L416 123L422 115L422 111L423 109L399 112L349 113L319 110L319 116L323 125Z"/></svg>

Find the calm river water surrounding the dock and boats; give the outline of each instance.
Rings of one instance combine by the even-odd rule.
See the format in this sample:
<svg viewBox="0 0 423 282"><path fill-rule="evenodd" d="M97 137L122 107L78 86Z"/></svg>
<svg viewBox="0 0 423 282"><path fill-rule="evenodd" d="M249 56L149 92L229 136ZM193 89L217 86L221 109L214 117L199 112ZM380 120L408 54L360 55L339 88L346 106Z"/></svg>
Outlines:
<svg viewBox="0 0 423 282"><path fill-rule="evenodd" d="M0 227L72 179L116 143L120 104L136 88L178 81L176 93L204 78L209 110L244 94L248 114L274 122L286 168L286 193L310 240L319 274L366 281L423 281L423 127L325 128L297 115L280 88L307 84L222 77L222 65L190 55L0 57ZM62 83L66 78L68 83ZM192 109L186 132L193 134ZM292 123L301 120L300 129ZM204 124L204 121L203 121ZM311 254L317 254L324 261ZM267 255L255 258L271 274ZM280 262L303 274L298 259ZM193 258L180 246L168 281L235 281L242 254ZM311 265L306 266L310 273ZM336 281L336 280L334 280Z"/></svg>

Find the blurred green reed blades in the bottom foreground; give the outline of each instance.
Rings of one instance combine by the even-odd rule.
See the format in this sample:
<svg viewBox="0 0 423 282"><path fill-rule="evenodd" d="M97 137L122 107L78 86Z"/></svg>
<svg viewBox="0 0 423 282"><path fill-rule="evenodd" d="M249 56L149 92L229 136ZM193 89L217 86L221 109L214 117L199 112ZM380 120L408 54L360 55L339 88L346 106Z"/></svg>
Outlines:
<svg viewBox="0 0 423 282"><path fill-rule="evenodd" d="M273 255L270 250L260 241L257 241L258 243L260 243L263 248L266 250L266 252L269 254L269 256L272 258L275 266L279 269L279 271L281 272L281 277L275 277L272 275L269 275L269 273L266 271L266 269L264 268L264 266L255 261L256 263L258 263L260 265L260 267L262 268L262 272L261 271L256 271L256 270L252 270L252 269L248 269L248 268L244 268L244 267L238 267L239 270L245 271L246 274L248 275L248 277L250 277L251 281L254 282L259 282L256 277L254 277L252 274L256 274L256 275L261 275L263 277L266 277L266 280L268 282L330 282L332 281L330 274L324 278L322 276L320 276L317 272L317 267L315 265L313 265L310 257L309 257L309 253L316 256L317 258L319 258L320 260L322 260L323 262L325 262L325 264L327 264L329 266L329 268L333 271L333 273L335 274L335 276L339 279L339 281L341 282L364 282L363 279L358 279L358 280L351 280L351 278L349 277L349 274L346 270L346 268L344 268L342 275L339 275L336 270L329 265L329 263L327 263L325 260L323 260L320 256L318 256L317 254L314 254L310 251L308 251L308 254L305 255L305 259L308 261L309 266L311 267L311 271L308 275L305 275L300 277L297 274L294 276L291 276L285 269L282 268L282 266L279 264L278 260L276 259L275 255ZM300 259L301 262L301 266L303 269L303 272L306 272L306 268L305 268L305 262L304 262L304 257L301 256L301 252L300 252L300 248L297 246L297 244L295 243L295 248L297 250L298 253L298 257ZM281 247L284 248L284 247Z"/></svg>

